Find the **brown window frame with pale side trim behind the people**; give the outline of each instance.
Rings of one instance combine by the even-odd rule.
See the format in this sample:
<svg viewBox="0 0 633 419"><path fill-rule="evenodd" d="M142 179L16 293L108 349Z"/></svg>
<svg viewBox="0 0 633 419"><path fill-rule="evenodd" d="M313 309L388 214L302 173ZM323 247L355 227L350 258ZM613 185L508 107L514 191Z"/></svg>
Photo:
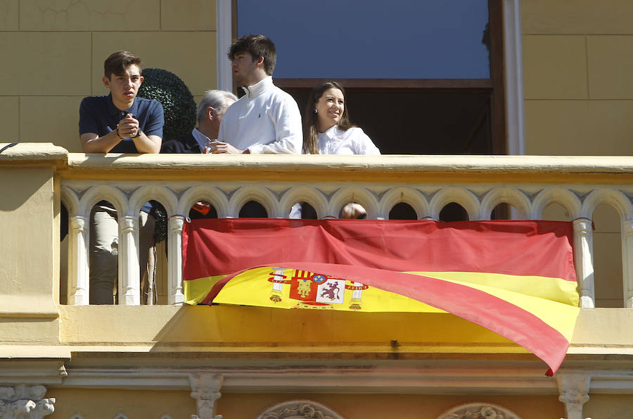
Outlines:
<svg viewBox="0 0 633 419"><path fill-rule="evenodd" d="M217 0L217 88L235 91L226 57L237 37L237 0ZM343 79L347 89L419 89L491 94L493 154L525 154L523 65L521 61L520 0L489 0L490 79ZM230 23L230 24L229 24ZM230 81L229 81L230 80ZM281 88L313 87L320 79L275 78Z"/></svg>

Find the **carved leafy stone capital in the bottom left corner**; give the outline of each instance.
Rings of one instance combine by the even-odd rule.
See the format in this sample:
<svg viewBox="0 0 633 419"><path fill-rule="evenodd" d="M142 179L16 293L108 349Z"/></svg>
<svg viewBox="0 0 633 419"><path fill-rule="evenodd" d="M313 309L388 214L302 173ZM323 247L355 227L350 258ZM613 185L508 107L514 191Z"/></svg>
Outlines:
<svg viewBox="0 0 633 419"><path fill-rule="evenodd" d="M44 399L43 385L18 384L0 387L1 419L41 419L55 411L55 399Z"/></svg>

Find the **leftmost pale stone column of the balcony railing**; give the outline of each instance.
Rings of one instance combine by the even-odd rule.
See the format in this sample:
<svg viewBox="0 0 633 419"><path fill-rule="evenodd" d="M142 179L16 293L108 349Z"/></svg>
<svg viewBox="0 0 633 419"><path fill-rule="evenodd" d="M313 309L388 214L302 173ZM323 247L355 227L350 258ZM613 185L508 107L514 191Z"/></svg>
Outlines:
<svg viewBox="0 0 633 419"><path fill-rule="evenodd" d="M90 304L88 272L88 220L76 215L70 217L68 237L68 304Z"/></svg>

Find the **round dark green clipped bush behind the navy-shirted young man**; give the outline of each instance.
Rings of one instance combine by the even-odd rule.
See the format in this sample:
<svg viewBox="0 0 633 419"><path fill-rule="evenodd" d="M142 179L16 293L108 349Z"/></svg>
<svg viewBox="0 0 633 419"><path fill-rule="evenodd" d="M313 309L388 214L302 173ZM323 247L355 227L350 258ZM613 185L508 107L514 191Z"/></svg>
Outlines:
<svg viewBox="0 0 633 419"><path fill-rule="evenodd" d="M162 68L146 68L142 75L139 97L159 101L165 111L162 141L191 132L196 126L196 101L180 77Z"/></svg>

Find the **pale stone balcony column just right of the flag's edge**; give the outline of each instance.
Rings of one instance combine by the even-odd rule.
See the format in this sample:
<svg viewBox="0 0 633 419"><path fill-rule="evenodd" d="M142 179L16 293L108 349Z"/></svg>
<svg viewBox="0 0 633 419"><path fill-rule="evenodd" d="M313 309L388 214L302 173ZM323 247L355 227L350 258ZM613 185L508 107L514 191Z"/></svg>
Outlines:
<svg viewBox="0 0 633 419"><path fill-rule="evenodd" d="M580 290L580 307L594 308L596 293L594 291L594 239L592 220L577 218L574 220L574 261L578 289Z"/></svg>

